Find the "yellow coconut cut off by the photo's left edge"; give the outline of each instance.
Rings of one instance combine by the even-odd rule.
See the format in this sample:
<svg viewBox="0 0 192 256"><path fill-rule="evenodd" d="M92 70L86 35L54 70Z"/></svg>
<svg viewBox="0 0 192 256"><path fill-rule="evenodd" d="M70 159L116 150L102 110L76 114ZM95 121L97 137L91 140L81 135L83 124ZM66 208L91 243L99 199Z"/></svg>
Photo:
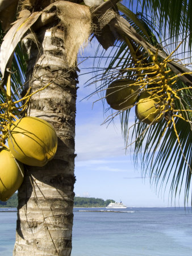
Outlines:
<svg viewBox="0 0 192 256"><path fill-rule="evenodd" d="M6 149L0 152L0 163L0 200L7 201L22 184L24 168Z"/></svg>

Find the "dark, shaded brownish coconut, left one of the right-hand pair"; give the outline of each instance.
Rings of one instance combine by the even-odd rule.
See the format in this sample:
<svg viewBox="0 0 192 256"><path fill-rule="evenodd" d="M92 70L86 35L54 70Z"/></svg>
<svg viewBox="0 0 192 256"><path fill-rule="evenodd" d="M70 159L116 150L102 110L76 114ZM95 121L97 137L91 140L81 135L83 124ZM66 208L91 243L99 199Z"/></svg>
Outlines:
<svg viewBox="0 0 192 256"><path fill-rule="evenodd" d="M125 110L135 104L139 95L139 85L135 80L119 79L111 82L106 90L106 100L112 109Z"/></svg>

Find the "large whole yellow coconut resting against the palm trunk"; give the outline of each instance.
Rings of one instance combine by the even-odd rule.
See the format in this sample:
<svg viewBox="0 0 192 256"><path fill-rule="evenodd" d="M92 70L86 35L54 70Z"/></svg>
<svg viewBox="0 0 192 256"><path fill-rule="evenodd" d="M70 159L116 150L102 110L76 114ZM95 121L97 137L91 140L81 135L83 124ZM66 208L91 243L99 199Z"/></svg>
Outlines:
<svg viewBox="0 0 192 256"><path fill-rule="evenodd" d="M57 150L57 135L51 124L37 117L15 121L8 139L12 154L29 166L44 166Z"/></svg>

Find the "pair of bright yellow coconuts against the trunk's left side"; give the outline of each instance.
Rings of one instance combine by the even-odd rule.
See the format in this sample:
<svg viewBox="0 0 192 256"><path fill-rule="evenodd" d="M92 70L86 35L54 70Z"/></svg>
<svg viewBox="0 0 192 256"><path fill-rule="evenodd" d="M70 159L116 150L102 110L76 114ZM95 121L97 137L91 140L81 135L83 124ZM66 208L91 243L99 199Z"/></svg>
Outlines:
<svg viewBox="0 0 192 256"><path fill-rule="evenodd" d="M23 182L24 167L45 166L57 150L57 135L48 122L37 117L24 117L12 123L9 150L0 152L0 200L8 200Z"/></svg>

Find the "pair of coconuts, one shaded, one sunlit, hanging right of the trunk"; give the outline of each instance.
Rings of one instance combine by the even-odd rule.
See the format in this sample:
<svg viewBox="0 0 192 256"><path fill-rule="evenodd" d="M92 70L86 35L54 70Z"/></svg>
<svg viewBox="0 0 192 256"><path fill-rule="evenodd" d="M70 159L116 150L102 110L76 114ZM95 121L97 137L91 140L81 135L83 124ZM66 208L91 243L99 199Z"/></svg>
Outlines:
<svg viewBox="0 0 192 256"><path fill-rule="evenodd" d="M119 79L111 82L106 90L106 101L115 110L136 106L136 117L148 125L154 125L164 117L161 97L157 93L140 90L135 80Z"/></svg>

